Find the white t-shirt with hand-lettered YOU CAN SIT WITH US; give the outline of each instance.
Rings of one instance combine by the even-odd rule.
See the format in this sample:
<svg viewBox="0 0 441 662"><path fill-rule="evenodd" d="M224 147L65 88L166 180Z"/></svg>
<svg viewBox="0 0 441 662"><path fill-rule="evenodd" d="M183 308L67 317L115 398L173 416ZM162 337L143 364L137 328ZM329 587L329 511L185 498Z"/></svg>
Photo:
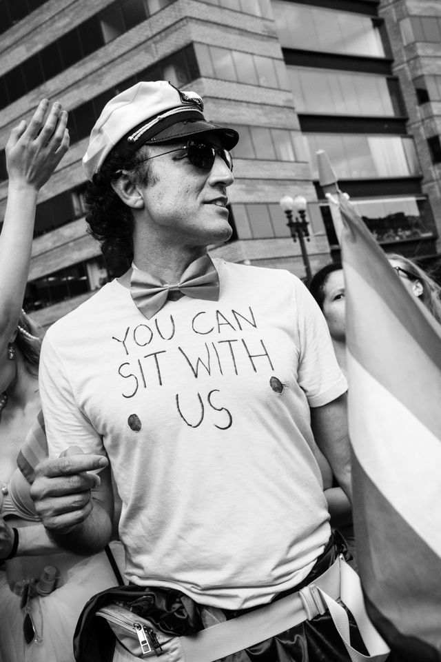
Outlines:
<svg viewBox="0 0 441 662"><path fill-rule="evenodd" d="M238 609L302 581L329 539L309 405L347 385L299 279L214 262L218 301L148 320L112 281L55 323L41 400L50 454L110 458L128 579Z"/></svg>

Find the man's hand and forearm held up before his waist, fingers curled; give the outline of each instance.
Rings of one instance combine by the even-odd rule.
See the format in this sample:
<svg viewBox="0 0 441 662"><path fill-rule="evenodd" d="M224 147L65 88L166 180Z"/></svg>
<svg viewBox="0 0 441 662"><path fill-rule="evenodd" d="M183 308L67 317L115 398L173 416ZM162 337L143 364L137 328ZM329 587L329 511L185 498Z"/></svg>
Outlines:
<svg viewBox="0 0 441 662"><path fill-rule="evenodd" d="M98 475L90 473L101 469ZM101 455L69 448L43 460L30 489L48 536L76 554L94 554L112 535L113 492L110 466Z"/></svg>

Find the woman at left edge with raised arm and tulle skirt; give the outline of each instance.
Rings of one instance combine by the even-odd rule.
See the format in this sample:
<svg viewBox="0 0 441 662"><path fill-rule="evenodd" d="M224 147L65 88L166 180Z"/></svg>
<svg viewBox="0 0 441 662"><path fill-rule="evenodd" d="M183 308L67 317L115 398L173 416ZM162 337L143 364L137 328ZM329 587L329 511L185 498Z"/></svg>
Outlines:
<svg viewBox="0 0 441 662"><path fill-rule="evenodd" d="M81 558L48 538L30 499L32 465L24 461L25 475L17 467L19 457L32 463L47 450L39 413L41 338L21 305L37 197L68 150L67 118L59 103L50 108L43 100L29 123L21 121L12 130L6 145L8 203L0 234L0 662L73 662L72 637L83 605L97 590L119 583L104 552Z"/></svg>

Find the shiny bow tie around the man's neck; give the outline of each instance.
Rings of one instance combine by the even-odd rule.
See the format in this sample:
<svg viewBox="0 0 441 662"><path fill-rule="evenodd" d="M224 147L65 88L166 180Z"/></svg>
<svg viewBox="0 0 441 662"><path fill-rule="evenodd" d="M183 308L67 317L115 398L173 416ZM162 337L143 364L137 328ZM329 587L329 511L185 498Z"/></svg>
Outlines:
<svg viewBox="0 0 441 662"><path fill-rule="evenodd" d="M194 299L217 301L219 277L212 259L207 254L198 257L185 269L178 283L166 283L140 269L132 271L130 294L136 306L147 319L161 310L167 301L168 293L173 290L178 290Z"/></svg>

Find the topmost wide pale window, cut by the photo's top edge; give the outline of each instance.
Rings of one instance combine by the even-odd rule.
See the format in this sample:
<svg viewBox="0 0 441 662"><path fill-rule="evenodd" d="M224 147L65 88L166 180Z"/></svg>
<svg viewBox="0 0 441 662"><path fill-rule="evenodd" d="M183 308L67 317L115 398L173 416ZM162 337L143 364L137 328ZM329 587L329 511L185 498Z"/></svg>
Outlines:
<svg viewBox="0 0 441 662"><path fill-rule="evenodd" d="M285 48L384 57L378 19L286 0L274 0L272 5Z"/></svg>

